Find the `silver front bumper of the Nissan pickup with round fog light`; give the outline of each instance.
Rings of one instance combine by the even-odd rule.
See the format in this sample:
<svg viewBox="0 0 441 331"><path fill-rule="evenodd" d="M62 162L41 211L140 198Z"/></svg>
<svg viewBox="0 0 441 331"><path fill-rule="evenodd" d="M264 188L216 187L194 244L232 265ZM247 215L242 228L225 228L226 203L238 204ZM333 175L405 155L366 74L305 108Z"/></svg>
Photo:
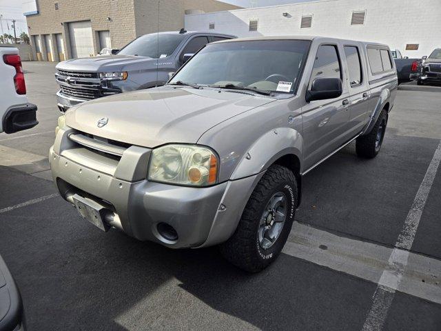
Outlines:
<svg viewBox="0 0 441 331"><path fill-rule="evenodd" d="M52 177L61 197L71 203L74 194L90 199L107 210L108 225L136 239L155 241L170 248L214 245L231 237L254 185L263 175L207 188L169 185L145 179L147 158L142 161L143 179L127 180L134 177L124 164L125 156L113 173L105 173L94 167L96 163L75 156L81 148L60 151L57 141L65 146L59 137L65 134L60 130L49 155ZM139 163L133 162L136 163L133 168L139 168ZM176 231L176 240L170 240L163 232L164 223Z"/></svg>

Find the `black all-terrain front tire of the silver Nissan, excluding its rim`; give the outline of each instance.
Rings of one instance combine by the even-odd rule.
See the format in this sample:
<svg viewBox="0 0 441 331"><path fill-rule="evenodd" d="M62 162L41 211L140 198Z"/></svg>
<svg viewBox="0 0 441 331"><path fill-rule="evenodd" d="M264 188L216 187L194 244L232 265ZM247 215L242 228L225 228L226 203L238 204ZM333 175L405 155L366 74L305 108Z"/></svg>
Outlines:
<svg viewBox="0 0 441 331"><path fill-rule="evenodd" d="M283 228L274 244L260 247L258 229L264 209L273 194L282 192L287 198L287 213ZM294 221L298 205L297 181L294 174L281 165L271 165L249 198L236 232L220 245L220 252L229 262L248 272L265 269L280 254Z"/></svg>

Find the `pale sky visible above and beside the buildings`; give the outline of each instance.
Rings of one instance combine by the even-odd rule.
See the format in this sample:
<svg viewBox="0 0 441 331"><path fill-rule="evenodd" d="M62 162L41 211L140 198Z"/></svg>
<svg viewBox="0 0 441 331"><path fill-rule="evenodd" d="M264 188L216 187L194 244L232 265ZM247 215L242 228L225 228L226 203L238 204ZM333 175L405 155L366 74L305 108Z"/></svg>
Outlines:
<svg viewBox="0 0 441 331"><path fill-rule="evenodd" d="M265 7L275 6L286 3L305 2L311 0L221 0L226 3L232 3L241 7ZM0 0L0 32L14 35L12 29L12 19L16 19L17 36L21 32L28 33L26 18L21 10L21 0Z"/></svg>

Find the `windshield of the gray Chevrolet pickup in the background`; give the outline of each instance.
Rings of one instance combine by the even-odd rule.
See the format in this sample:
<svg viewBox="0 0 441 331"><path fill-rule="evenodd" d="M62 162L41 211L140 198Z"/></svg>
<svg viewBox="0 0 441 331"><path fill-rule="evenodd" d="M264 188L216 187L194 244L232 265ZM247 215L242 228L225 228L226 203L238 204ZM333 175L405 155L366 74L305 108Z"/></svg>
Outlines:
<svg viewBox="0 0 441 331"><path fill-rule="evenodd" d="M118 54L152 57L168 57L184 39L183 34L145 34L121 49ZM159 48L158 48L159 41Z"/></svg>

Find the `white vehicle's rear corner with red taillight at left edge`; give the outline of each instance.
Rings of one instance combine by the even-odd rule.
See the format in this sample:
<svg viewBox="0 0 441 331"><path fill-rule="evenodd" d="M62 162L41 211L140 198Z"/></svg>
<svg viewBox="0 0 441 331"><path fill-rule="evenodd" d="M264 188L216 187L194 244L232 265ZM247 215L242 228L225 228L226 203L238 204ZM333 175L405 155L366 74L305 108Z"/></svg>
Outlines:
<svg viewBox="0 0 441 331"><path fill-rule="evenodd" d="M28 102L19 50L0 46L0 132L33 128L37 106Z"/></svg>

